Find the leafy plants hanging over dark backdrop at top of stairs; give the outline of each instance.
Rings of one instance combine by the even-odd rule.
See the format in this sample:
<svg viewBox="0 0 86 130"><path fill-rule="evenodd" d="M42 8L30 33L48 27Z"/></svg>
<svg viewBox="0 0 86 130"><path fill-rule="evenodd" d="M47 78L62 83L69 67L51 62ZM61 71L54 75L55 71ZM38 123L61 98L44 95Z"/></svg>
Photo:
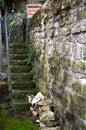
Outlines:
<svg viewBox="0 0 86 130"><path fill-rule="evenodd" d="M12 40L12 42L19 42L21 37L23 37L23 39L20 42L25 42L26 21L26 15L23 10L17 13L10 13L7 16L8 34L9 39Z"/></svg>

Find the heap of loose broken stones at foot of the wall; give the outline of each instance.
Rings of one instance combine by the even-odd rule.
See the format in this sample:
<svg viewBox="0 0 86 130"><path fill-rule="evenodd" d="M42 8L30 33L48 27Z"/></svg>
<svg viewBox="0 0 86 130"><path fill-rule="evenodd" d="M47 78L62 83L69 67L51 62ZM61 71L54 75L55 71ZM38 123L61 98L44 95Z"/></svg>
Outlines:
<svg viewBox="0 0 86 130"><path fill-rule="evenodd" d="M31 104L30 110L33 116L38 117L36 123L39 124L40 130L60 130L54 112L51 110L50 99L38 92L36 96L28 96L28 101Z"/></svg>

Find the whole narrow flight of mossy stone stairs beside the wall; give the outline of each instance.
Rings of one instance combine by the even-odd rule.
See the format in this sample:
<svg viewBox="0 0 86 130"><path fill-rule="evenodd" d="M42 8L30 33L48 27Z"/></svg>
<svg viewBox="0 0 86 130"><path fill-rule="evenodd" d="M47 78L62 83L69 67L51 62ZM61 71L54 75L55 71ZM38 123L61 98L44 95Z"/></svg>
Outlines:
<svg viewBox="0 0 86 130"><path fill-rule="evenodd" d="M35 94L37 91L32 66L25 63L27 44L10 43L9 46L12 107L15 111L26 111L29 109L27 95Z"/></svg>

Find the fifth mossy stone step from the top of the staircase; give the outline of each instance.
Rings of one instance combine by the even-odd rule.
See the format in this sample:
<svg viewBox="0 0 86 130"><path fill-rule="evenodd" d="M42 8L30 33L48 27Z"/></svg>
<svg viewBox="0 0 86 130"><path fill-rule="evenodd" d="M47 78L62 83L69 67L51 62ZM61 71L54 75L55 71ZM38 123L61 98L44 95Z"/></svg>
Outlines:
<svg viewBox="0 0 86 130"><path fill-rule="evenodd" d="M31 66L10 66L11 73L27 73Z"/></svg>

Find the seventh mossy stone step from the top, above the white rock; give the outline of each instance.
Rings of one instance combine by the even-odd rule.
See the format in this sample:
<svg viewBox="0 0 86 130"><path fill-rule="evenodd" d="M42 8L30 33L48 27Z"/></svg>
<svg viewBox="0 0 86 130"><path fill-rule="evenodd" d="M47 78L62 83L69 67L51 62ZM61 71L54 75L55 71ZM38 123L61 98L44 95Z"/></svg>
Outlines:
<svg viewBox="0 0 86 130"><path fill-rule="evenodd" d="M11 82L12 89L16 90L27 90L29 88L34 88L35 83L32 81L28 82Z"/></svg>

